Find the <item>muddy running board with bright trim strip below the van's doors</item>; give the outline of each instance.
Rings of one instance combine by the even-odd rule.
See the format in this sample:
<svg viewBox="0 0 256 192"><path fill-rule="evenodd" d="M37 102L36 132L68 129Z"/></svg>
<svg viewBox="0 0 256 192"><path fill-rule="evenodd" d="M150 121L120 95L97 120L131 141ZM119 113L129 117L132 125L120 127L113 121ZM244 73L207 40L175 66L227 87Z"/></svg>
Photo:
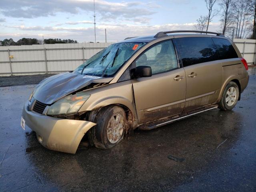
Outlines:
<svg viewBox="0 0 256 192"><path fill-rule="evenodd" d="M216 108L218 108L218 106L214 106L212 108L208 108L208 109L205 109L205 110L202 110L202 111L198 111L198 112L195 112L195 113L192 113L192 114L188 114L188 115L185 115L185 116L182 116L182 117L179 117L179 118L176 118L176 119L172 119L172 120L169 120L169 121L166 121L166 122L162 122L162 123L159 123L159 121L162 121L162 120L159 120L157 122L154 122L154 124L151 125L151 126L142 125L141 127L139 127L139 129L140 130L152 130L154 128L158 128L160 126L164 126L164 125L170 124L172 122L175 122L175 121L178 121L178 120L182 120L184 118L188 118L190 116L193 116L193 115L205 112L205 111L209 111L209 110L212 110L212 109L216 109Z"/></svg>

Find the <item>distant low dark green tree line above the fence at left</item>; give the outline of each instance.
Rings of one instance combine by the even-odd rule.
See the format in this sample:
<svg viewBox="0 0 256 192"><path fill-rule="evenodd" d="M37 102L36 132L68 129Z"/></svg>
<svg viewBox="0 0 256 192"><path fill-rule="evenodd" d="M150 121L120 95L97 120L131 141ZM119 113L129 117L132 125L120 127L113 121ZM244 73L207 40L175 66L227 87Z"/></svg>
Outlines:
<svg viewBox="0 0 256 192"><path fill-rule="evenodd" d="M40 44L56 44L56 43L78 43L76 40L71 39L44 39L38 40L36 38L22 38L15 42L12 38L4 39L0 41L0 46L10 46L10 45L40 45Z"/></svg>

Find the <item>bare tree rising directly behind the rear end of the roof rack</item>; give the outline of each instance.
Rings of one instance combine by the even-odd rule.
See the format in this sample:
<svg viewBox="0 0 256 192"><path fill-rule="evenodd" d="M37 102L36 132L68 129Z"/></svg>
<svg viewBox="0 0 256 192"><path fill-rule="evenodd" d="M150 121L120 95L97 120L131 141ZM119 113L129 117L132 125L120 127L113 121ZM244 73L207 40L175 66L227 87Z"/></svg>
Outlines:
<svg viewBox="0 0 256 192"><path fill-rule="evenodd" d="M232 25L234 24L234 0L221 0L220 2L221 10L221 29L222 33L225 34L227 31L230 32Z"/></svg>

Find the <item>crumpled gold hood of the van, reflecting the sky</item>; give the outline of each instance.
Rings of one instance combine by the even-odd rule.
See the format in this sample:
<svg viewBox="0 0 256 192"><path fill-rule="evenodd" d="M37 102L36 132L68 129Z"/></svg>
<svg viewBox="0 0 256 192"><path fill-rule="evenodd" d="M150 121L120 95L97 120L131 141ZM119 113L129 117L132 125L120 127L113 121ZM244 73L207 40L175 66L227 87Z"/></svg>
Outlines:
<svg viewBox="0 0 256 192"><path fill-rule="evenodd" d="M36 86L33 97L44 104L52 104L91 83L108 83L112 79L64 72L42 80Z"/></svg>

